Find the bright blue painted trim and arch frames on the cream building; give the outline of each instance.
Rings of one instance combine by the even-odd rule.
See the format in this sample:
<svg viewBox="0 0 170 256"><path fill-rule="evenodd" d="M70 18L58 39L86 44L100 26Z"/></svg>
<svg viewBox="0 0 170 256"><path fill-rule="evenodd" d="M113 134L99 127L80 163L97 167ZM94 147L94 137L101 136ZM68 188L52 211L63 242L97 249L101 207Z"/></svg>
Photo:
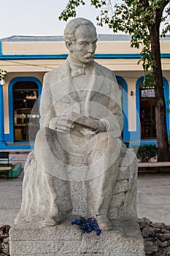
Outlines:
<svg viewBox="0 0 170 256"><path fill-rule="evenodd" d="M52 54L52 55L3 55L1 53L1 40L0 40L0 59L1 60L21 60L21 59L66 59L67 54ZM95 59L140 59L141 55L139 53L132 54L95 54ZM170 58L170 53L161 53L161 58ZM139 78L136 82L136 131L128 131L128 86L125 79L117 76L117 80L120 81L123 85L123 117L124 117L124 129L123 129L123 140L133 140L135 143L136 140L140 141L140 102L139 102L139 84L143 81L143 77ZM42 83L34 77L19 77L14 78L9 83L9 134L5 135L5 140L7 142L14 141L14 130L13 130L13 99L12 99L12 86L18 81L34 81L37 86L39 86L39 95L42 90ZM164 93L166 99L166 108L169 108L169 83L166 78L163 78L164 83ZM170 136L169 131L169 113L166 116L166 124L168 129L168 135ZM156 143L156 140L141 140L142 143ZM21 146L22 148L22 146Z"/></svg>

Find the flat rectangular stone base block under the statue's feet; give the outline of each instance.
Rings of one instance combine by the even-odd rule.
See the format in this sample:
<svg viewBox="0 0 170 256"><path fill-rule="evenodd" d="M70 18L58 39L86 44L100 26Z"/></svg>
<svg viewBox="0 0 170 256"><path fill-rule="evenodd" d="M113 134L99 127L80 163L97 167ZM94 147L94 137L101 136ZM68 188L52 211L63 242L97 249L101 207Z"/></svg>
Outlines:
<svg viewBox="0 0 170 256"><path fill-rule="evenodd" d="M74 218L74 217L72 217ZM11 256L144 256L144 242L136 222L112 222L114 230L100 236L82 234L72 218L55 227L12 227Z"/></svg>

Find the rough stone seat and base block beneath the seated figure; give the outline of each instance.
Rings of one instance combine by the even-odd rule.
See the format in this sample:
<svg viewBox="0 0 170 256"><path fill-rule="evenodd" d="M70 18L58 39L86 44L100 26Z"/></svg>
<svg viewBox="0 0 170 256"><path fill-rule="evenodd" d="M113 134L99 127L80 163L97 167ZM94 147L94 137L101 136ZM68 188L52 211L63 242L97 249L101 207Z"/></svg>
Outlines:
<svg viewBox="0 0 170 256"><path fill-rule="evenodd" d="M9 230L11 256L144 256L144 242L139 226L136 222L136 180L137 162L134 152L122 148L119 175L112 192L112 202L109 207L108 218L112 222L113 230L102 231L101 236L92 233L82 234L72 220L85 215L86 190L84 182L72 182L72 216L68 216L60 225L42 227L48 207L44 201L31 208L31 203L39 196L44 199L48 193L36 181L41 180L42 172L34 178L37 169L34 168L35 159L26 162L25 179L23 182L23 207L26 216L18 214L17 221ZM31 188L32 193L30 193ZM41 192L41 193L40 193ZM31 197L31 196L32 197ZM28 197L30 196L30 197ZM28 200L26 198L28 197ZM40 198L40 197L37 197ZM64 197L62 197L64 198ZM63 200L63 206L65 206ZM38 208L39 207L39 208ZM22 208L21 208L22 209ZM36 210L39 211L31 211ZM22 212L22 211L21 211ZM36 213L36 214L35 214ZM27 216L28 215L28 216ZM76 216L75 216L76 215Z"/></svg>

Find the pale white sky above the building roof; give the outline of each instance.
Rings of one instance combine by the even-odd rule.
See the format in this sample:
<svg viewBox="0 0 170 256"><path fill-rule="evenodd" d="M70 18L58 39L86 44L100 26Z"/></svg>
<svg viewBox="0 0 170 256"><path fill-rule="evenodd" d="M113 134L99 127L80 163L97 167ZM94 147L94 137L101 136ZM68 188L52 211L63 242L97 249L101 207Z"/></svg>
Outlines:
<svg viewBox="0 0 170 256"><path fill-rule="evenodd" d="M87 4L77 9L77 17L88 18L96 25L98 10ZM63 35L66 22L58 20L67 0L0 0L0 38L12 35ZM96 26L98 34L112 34L107 26Z"/></svg>

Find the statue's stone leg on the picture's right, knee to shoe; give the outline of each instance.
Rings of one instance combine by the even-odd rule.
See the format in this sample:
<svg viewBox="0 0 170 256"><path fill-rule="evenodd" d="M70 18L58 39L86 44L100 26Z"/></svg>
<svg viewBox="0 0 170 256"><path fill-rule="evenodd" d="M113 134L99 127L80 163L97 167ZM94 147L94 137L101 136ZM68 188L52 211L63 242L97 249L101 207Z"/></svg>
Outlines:
<svg viewBox="0 0 170 256"><path fill-rule="evenodd" d="M112 224L107 219L107 213L118 176L120 142L117 139L108 138L107 132L98 133L96 136L98 137L96 148L88 157L89 170L96 173L96 177L86 181L88 216L96 217L101 229L110 230ZM97 173L92 163L94 164L99 159L102 160L98 162ZM100 167L103 170L100 170Z"/></svg>

